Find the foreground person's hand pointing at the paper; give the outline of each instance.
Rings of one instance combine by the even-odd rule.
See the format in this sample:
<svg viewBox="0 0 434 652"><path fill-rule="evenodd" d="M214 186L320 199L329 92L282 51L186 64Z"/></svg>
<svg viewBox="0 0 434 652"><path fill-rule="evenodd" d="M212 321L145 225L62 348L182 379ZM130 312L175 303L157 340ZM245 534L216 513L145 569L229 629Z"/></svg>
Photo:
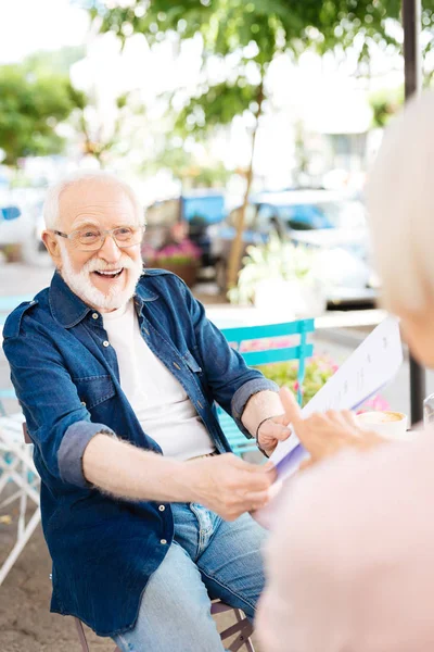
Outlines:
<svg viewBox="0 0 434 652"><path fill-rule="evenodd" d="M285 417L304 448L310 453L310 460L304 467L335 455L344 449L366 451L385 442L376 432L361 428L353 412L348 410L330 410L304 419L299 405L288 387L280 389L280 399Z"/></svg>

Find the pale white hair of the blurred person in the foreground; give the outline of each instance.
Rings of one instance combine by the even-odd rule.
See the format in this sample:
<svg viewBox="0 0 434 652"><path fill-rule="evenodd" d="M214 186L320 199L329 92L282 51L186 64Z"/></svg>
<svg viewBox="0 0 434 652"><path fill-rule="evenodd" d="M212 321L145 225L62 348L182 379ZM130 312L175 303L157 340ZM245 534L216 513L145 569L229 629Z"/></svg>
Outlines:
<svg viewBox="0 0 434 652"><path fill-rule="evenodd" d="M434 92L412 99L386 129L367 186L383 302L423 311L434 298Z"/></svg>

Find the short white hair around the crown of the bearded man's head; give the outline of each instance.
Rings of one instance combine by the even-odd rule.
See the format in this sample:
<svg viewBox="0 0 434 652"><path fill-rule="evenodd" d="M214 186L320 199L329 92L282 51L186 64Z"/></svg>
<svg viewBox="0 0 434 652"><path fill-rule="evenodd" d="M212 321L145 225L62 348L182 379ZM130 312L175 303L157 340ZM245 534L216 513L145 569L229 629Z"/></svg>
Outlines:
<svg viewBox="0 0 434 652"><path fill-rule="evenodd" d="M46 201L43 203L43 220L46 223L46 228L58 228L60 225L59 202L62 192L66 190L66 188L71 188L71 186L84 183L86 184L88 181L116 185L122 188L122 190L124 190L125 195L127 195L131 201L138 223L144 224L143 206L141 205L136 192L128 184L122 181L110 172L103 172L100 170L79 170L58 181L54 186L51 186L48 189Z"/></svg>

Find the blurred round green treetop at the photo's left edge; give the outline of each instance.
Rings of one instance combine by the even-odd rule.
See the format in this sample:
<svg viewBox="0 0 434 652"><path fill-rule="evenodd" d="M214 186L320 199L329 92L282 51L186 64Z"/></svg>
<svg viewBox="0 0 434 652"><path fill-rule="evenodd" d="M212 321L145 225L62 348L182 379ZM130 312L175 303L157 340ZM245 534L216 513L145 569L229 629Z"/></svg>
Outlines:
<svg viewBox="0 0 434 652"><path fill-rule="evenodd" d="M23 156L56 154L64 139L56 127L76 105L80 93L69 78L28 65L0 67L0 148L3 163L16 166Z"/></svg>

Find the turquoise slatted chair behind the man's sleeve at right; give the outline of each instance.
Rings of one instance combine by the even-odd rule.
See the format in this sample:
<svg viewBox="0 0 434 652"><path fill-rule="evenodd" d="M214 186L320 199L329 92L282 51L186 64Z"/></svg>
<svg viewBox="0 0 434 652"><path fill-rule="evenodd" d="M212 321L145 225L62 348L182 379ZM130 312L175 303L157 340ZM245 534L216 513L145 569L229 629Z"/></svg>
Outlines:
<svg viewBox="0 0 434 652"><path fill-rule="evenodd" d="M314 333L314 319L298 319L297 322L286 322L283 324L221 329L228 342L242 354L244 361L250 366L298 360L298 403L302 403L302 386L305 378L306 359L310 358L314 352L312 344L307 343L307 335ZM282 337L299 337L299 343L282 347L282 341L276 339ZM254 340L255 350L243 350L248 349L248 342L253 342ZM283 343L288 344L288 342ZM292 344L292 342L289 343ZM241 456L243 453L258 450L256 441L247 439L238 428L233 418L219 405L217 406L217 415L225 436L237 455Z"/></svg>

